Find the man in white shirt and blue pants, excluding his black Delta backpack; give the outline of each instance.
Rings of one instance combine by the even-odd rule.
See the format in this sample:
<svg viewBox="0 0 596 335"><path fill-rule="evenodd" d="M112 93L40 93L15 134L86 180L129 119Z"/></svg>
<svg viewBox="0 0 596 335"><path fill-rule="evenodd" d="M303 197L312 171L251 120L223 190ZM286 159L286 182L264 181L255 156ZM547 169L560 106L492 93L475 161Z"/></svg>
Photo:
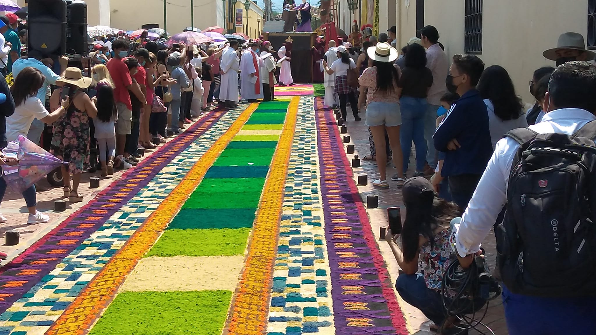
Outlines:
<svg viewBox="0 0 596 335"><path fill-rule="evenodd" d="M596 120L595 91L596 66L573 61L558 67L552 73L549 92L545 95L546 114L541 123L529 128L538 134L575 134L586 123ZM503 138L496 144L491 160L465 210L455 234L458 257L464 267L470 265L472 255L479 251L480 243L491 231L505 206L511 165L519 147L511 138ZM560 210L566 209L561 207ZM544 228L536 225L536 229ZM553 268L552 271L557 269ZM526 296L511 293L505 286L502 295L510 335L594 333L594 296Z"/></svg>

